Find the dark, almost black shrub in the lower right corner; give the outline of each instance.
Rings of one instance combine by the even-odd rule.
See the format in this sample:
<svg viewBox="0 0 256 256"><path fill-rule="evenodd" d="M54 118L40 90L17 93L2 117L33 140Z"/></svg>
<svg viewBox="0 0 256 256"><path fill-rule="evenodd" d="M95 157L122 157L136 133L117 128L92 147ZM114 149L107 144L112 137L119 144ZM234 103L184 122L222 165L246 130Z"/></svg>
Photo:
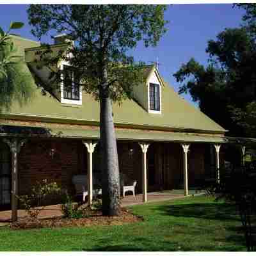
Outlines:
<svg viewBox="0 0 256 256"><path fill-rule="evenodd" d="M236 205L243 225L244 237L248 252L256 250L256 173L254 168L234 166L224 170L220 183L212 184L207 189L208 195L216 200L225 199Z"/></svg>

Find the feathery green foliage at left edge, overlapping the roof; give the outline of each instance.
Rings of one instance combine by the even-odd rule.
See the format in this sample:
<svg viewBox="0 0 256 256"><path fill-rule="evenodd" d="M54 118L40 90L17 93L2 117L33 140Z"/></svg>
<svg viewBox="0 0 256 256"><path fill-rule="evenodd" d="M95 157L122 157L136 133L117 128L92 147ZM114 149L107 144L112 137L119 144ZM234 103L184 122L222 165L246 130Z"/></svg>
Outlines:
<svg viewBox="0 0 256 256"><path fill-rule="evenodd" d="M17 56L9 35L11 29L22 26L21 22L12 22L6 33L0 28L0 109L10 109L13 101L22 105L33 97L33 77L21 56Z"/></svg>

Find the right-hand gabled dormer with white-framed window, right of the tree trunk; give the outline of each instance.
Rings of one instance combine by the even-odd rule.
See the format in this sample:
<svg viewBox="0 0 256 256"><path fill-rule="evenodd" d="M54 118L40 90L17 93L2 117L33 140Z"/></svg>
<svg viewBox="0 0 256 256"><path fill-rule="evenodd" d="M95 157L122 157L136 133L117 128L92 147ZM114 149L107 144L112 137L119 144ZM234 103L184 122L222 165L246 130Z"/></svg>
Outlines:
<svg viewBox="0 0 256 256"><path fill-rule="evenodd" d="M146 82L134 87L134 100L138 102L148 113L162 113L163 81L155 65L143 67Z"/></svg>

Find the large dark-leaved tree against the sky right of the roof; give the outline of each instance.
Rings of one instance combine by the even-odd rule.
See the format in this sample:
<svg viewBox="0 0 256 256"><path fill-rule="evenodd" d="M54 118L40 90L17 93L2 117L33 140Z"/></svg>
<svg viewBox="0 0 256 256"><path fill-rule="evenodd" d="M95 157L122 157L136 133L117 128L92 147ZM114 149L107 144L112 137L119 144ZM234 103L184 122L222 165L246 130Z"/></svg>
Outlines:
<svg viewBox="0 0 256 256"><path fill-rule="evenodd" d="M249 8L247 5L243 7ZM252 8L255 5L250 5L250 12L246 9L244 20L253 15ZM246 120L252 118L244 118L256 93L253 19L249 23L250 26L225 29L216 40L209 40L207 67L191 59L174 74L179 83L184 83L179 93L190 93L200 109L228 129L232 136L252 136L252 129L246 124ZM243 120L238 119L240 117Z"/></svg>

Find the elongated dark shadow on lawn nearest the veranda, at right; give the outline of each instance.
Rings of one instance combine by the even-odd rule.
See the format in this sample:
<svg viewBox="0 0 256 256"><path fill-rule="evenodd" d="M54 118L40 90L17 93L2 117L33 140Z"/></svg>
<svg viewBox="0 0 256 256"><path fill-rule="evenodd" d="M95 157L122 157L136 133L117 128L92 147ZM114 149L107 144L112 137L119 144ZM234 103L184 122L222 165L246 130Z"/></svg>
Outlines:
<svg viewBox="0 0 256 256"><path fill-rule="evenodd" d="M240 220L234 205L224 203L160 205L155 209L162 212L164 215L175 217L204 218L209 220L229 221Z"/></svg>

